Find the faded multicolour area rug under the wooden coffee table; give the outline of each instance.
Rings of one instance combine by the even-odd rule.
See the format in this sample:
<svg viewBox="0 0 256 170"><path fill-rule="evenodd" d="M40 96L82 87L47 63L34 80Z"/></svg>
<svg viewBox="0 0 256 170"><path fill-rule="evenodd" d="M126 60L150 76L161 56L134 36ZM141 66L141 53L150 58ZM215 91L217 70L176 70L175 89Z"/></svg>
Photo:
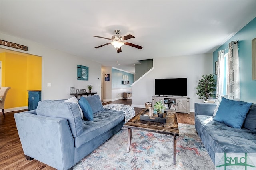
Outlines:
<svg viewBox="0 0 256 170"><path fill-rule="evenodd" d="M214 164L194 125L178 124L177 164L173 165L173 137L132 130L132 146L126 152L128 129L122 128L73 170L214 170Z"/></svg>

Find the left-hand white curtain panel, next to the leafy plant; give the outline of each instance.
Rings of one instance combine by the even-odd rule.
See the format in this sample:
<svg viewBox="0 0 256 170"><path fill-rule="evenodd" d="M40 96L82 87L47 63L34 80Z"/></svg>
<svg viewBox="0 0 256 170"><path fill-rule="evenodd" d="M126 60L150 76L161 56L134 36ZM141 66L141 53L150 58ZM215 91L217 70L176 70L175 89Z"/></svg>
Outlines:
<svg viewBox="0 0 256 170"><path fill-rule="evenodd" d="M224 50L218 51L218 70L217 70L217 87L216 87L216 97L218 101L221 100L223 95L223 86L224 86L224 69L225 69L225 57Z"/></svg>

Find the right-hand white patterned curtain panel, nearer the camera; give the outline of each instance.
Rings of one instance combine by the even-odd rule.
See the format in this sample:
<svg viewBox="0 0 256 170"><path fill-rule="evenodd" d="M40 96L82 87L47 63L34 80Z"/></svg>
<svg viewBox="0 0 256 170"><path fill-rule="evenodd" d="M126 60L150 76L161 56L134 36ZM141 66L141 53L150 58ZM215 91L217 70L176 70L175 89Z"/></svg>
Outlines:
<svg viewBox="0 0 256 170"><path fill-rule="evenodd" d="M238 41L229 43L228 50L228 68L227 68L227 95L229 99L240 99L240 73L239 73L239 56Z"/></svg>

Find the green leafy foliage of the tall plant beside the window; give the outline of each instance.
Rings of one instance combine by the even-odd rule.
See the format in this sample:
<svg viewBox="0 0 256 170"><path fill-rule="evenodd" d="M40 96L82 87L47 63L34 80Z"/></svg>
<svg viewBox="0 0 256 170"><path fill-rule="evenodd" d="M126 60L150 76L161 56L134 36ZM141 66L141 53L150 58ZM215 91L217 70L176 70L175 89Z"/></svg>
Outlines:
<svg viewBox="0 0 256 170"><path fill-rule="evenodd" d="M214 97L213 92L216 91L216 81L214 74L202 75L202 79L198 81L196 89L198 90L196 95L198 99L204 99L207 101L209 97Z"/></svg>

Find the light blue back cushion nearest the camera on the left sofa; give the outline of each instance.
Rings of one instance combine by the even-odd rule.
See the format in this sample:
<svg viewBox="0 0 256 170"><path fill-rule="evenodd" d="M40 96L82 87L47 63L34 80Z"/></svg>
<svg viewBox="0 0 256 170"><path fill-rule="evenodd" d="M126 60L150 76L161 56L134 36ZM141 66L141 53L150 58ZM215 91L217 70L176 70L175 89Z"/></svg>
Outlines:
<svg viewBox="0 0 256 170"><path fill-rule="evenodd" d="M67 119L73 137L83 132L82 118L76 103L43 100L38 103L37 115Z"/></svg>

